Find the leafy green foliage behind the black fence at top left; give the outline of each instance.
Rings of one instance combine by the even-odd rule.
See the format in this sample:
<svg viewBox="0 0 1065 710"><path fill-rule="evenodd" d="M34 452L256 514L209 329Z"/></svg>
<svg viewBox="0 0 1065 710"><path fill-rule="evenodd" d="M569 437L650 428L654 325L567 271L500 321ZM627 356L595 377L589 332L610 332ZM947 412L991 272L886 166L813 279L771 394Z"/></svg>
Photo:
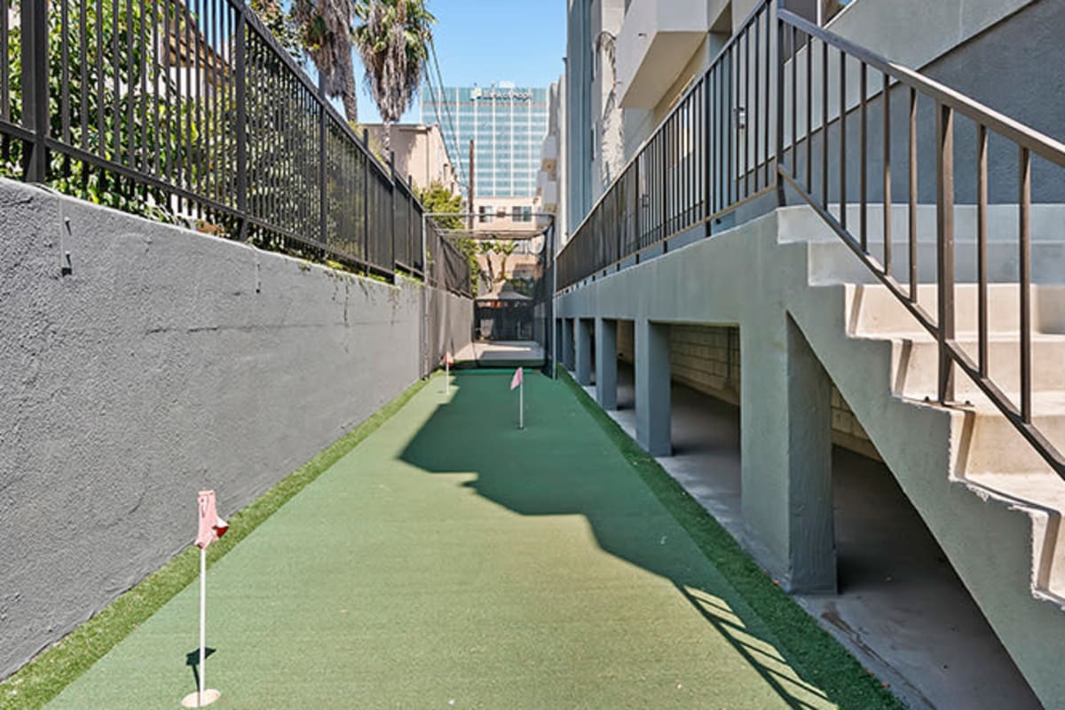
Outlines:
<svg viewBox="0 0 1065 710"><path fill-rule="evenodd" d="M12 9L18 17L19 3L13 2ZM197 109L160 66L152 44L162 28L183 32L194 21L189 11L178 3L144 7L121 0L100 0L99 5L73 0L65 21L64 48L63 13L48 13L50 134L141 170L168 172L183 166L190 183L198 181L207 146L193 126ZM21 120L21 44L16 22L5 48L13 122ZM21 146L15 143L0 162L0 176L21 177ZM62 193L155 219L174 219L165 193L135 186L88 163L53 153L49 176L49 184Z"/></svg>

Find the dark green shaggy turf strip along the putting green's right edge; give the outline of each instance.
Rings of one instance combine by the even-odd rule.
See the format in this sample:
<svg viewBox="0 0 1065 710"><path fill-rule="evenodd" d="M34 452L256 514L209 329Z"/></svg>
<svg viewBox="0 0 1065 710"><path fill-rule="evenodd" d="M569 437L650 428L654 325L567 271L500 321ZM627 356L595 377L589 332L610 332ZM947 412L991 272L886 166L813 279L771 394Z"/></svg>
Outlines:
<svg viewBox="0 0 1065 710"><path fill-rule="evenodd" d="M559 370L574 395L624 453L633 469L691 535L714 566L761 617L788 661L824 690L841 708L904 708L887 687L851 654L744 552L736 540L670 476L654 457L603 411L569 373Z"/></svg>

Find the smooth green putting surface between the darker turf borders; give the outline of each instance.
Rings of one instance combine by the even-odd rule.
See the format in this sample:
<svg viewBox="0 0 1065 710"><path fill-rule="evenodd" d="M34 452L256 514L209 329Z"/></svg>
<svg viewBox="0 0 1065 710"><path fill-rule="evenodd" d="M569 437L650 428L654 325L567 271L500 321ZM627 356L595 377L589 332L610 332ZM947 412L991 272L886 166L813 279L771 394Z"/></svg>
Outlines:
<svg viewBox="0 0 1065 710"><path fill-rule="evenodd" d="M432 380L211 568L211 707L834 707L570 389L527 374L518 430L509 379ZM197 604L48 707L180 707Z"/></svg>

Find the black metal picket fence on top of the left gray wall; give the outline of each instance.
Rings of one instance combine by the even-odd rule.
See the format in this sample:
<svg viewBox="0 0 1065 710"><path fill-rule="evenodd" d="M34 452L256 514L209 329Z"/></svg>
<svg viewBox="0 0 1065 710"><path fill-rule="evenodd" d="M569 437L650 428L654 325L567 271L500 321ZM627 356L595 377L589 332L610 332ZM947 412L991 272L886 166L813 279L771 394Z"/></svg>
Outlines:
<svg viewBox="0 0 1065 710"><path fill-rule="evenodd" d="M409 183L243 0L0 0L0 176L424 276Z"/></svg>

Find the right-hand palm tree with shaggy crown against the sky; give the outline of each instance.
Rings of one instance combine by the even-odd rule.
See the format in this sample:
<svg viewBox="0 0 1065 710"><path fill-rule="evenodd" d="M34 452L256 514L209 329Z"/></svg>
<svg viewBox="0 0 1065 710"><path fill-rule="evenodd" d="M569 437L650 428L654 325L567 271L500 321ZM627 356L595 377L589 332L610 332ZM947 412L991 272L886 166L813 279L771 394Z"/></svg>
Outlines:
<svg viewBox="0 0 1065 710"><path fill-rule="evenodd" d="M422 81L437 18L425 0L357 0L355 44L366 67L366 86L384 122L384 150L392 146L392 123L414 99Z"/></svg>

